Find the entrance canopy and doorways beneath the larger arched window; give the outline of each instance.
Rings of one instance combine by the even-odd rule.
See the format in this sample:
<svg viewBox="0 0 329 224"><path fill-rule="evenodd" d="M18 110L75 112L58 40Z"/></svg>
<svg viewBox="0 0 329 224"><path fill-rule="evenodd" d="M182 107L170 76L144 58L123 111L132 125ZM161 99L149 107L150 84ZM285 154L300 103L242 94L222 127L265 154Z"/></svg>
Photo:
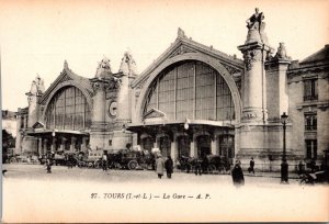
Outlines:
<svg viewBox="0 0 329 224"><path fill-rule="evenodd" d="M137 133L141 149L151 152L159 148L162 156L204 157L223 155L234 158L235 126L229 122L185 120L175 122L144 122L126 125L126 130Z"/></svg>

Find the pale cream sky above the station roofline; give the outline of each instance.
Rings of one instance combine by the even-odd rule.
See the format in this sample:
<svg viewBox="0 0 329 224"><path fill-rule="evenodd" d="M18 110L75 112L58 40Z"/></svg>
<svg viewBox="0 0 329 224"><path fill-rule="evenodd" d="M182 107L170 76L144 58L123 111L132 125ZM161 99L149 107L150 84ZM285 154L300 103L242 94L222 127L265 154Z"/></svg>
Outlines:
<svg viewBox="0 0 329 224"><path fill-rule="evenodd" d="M269 43L286 45L304 59L329 44L329 1L252 0L0 0L2 109L27 107L26 92L38 74L45 87L59 76L64 60L83 77L95 75L106 56L116 72L126 51L139 72L177 37L185 35L228 55L247 37L246 20L264 13Z"/></svg>

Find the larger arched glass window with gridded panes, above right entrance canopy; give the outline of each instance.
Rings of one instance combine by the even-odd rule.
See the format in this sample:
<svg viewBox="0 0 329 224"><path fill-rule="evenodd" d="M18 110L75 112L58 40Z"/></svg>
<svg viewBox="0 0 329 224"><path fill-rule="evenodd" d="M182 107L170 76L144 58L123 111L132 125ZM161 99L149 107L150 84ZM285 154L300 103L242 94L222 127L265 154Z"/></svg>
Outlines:
<svg viewBox="0 0 329 224"><path fill-rule="evenodd" d="M166 68L149 88L144 114L150 109L169 120L227 121L235 119L234 102L224 78L211 66L195 60Z"/></svg>

